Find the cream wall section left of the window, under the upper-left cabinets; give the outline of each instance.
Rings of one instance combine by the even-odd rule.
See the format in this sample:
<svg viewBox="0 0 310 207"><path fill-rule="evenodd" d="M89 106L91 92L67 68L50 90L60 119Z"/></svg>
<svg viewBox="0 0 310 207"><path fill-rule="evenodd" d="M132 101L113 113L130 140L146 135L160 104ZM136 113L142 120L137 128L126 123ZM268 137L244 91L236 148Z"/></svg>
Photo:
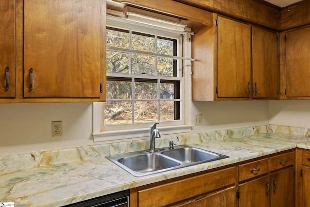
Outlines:
<svg viewBox="0 0 310 207"><path fill-rule="evenodd" d="M0 104L0 156L91 145L92 103ZM62 121L62 137L51 137Z"/></svg>

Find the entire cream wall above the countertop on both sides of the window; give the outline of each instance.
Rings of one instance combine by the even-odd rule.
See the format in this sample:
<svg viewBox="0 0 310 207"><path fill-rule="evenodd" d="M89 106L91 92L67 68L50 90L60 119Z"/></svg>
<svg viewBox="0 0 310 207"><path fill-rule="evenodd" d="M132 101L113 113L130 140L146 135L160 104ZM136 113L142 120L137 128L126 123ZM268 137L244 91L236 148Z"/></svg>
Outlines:
<svg viewBox="0 0 310 207"><path fill-rule="evenodd" d="M0 104L0 156L92 145L92 103ZM310 100L194 101L192 133L265 124L310 127ZM51 137L62 120L63 136Z"/></svg>

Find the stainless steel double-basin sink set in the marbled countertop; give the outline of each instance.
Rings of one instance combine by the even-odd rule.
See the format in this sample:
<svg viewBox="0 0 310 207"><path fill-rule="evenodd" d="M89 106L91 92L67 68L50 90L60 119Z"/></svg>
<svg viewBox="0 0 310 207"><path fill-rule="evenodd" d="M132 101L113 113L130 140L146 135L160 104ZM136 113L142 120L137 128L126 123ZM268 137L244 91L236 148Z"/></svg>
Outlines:
<svg viewBox="0 0 310 207"><path fill-rule="evenodd" d="M140 177L224 159L228 158L228 156L188 145L178 145L173 149L165 147L155 152L128 152L109 155L106 156L106 158L126 170L131 175Z"/></svg>

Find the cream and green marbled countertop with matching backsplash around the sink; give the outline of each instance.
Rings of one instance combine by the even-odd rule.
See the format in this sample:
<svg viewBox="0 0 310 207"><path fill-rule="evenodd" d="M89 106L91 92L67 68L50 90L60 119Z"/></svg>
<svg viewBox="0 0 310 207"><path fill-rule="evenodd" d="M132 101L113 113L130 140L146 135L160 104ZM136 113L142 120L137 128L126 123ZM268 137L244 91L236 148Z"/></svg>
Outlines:
<svg viewBox="0 0 310 207"><path fill-rule="evenodd" d="M112 192L293 149L310 149L308 128L275 125L187 134L172 140L229 156L160 174L135 177L104 156L147 149L149 140L99 144L0 157L0 202L15 207L63 206Z"/></svg>

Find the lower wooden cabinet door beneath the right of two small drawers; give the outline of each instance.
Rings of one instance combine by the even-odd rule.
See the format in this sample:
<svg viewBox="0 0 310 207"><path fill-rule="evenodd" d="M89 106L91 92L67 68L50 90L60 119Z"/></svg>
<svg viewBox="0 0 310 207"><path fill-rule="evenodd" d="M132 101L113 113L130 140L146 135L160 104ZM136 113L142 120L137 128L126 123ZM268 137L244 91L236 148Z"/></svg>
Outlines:
<svg viewBox="0 0 310 207"><path fill-rule="evenodd" d="M271 207L294 207L294 168L270 175Z"/></svg>

